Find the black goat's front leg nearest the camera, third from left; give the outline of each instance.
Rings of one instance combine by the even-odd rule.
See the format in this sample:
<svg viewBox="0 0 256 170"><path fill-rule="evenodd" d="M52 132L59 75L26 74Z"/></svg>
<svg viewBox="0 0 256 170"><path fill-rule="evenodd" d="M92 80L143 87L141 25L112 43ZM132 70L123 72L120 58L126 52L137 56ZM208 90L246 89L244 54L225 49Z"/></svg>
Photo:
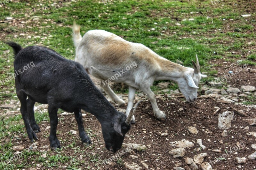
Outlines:
<svg viewBox="0 0 256 170"><path fill-rule="evenodd" d="M60 141L57 138L57 126L58 126L58 108L55 106L48 106L48 112L50 117L51 131L49 136L50 147L52 149L61 148Z"/></svg>

